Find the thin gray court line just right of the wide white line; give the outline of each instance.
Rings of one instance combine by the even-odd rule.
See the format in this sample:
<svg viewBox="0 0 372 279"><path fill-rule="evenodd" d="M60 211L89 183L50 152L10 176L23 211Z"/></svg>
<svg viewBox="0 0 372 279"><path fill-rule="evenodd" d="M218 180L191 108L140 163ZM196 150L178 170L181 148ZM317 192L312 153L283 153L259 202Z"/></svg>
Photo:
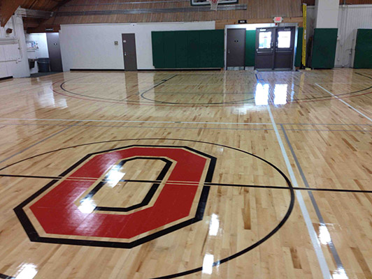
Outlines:
<svg viewBox="0 0 372 279"><path fill-rule="evenodd" d="M289 150L292 153L292 156L294 158L294 162L296 163L296 167L297 167L297 169L299 169L299 173L301 174L302 181L305 184L306 188L310 188L310 186L308 184L308 180L306 179L306 176L303 173L302 167L301 167L301 165L299 163L299 160L297 159L297 156L296 156L296 153L294 152L294 149L292 147L292 144L289 141L289 137L288 137L287 133L285 132L285 128L284 128L284 126L282 126L282 124L280 124L280 128L282 128L282 133L284 134L285 140L286 140L286 142L287 142L287 144L289 146ZM313 195L313 192L311 192L309 190L308 191L308 195L309 195L309 197L311 199L311 203L313 204L313 207L315 209L315 212L317 214L317 218L319 219L320 224L322 226L324 226L327 229L327 231L328 231L328 228L327 228L326 223L324 222L324 218L322 216L322 213L320 213L319 206L317 206L317 202L315 201L315 197ZM336 247L334 246L334 242L332 241L332 238L331 238L330 235L331 234L329 234L329 242L327 243L328 246L329 246L329 250L331 250L331 253L332 253L333 257L334 257L334 261L336 262L337 269L338 270L342 270L344 272L344 275L346 276L346 278L348 278L347 275L346 275L346 273L345 273L345 269L344 269L343 264L341 262L340 256L338 255L338 252L336 250Z"/></svg>

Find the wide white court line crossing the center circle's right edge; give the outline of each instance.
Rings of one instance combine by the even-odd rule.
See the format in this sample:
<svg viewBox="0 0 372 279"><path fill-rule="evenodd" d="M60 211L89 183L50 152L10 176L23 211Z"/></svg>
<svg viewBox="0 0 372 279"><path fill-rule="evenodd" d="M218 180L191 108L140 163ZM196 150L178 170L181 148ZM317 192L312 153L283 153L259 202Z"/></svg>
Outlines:
<svg viewBox="0 0 372 279"><path fill-rule="evenodd" d="M278 127L276 126L274 116L271 113L270 105L267 105L267 111L269 112L271 122L273 123L273 128L275 130L276 139L278 140L278 144L280 146L280 151L282 152L282 158L285 161L285 166L287 167L287 171L289 173L289 177L291 178L292 185L293 185L294 189L299 188L299 183L297 183L297 179L296 179L296 176L294 175L292 165L289 162L287 151L285 151L285 147L284 147L284 144L282 142L282 138L280 137ZM301 209L303 220L305 221L306 228L308 229L308 234L310 236L310 241L313 244L314 252L315 252L315 255L317 256L317 261L319 263L320 270L322 271L323 278L324 279L327 279L327 278L331 279L331 273L330 273L330 270L329 270L329 266L328 266L327 261L324 257L324 253L323 253L322 247L320 246L320 241L317 238L317 233L315 232L313 222L311 221L310 215L308 213L308 209L306 207L305 202L303 201L303 196L302 196L301 190L296 190L296 199L297 199L297 202L299 202L299 206L300 206L300 209Z"/></svg>

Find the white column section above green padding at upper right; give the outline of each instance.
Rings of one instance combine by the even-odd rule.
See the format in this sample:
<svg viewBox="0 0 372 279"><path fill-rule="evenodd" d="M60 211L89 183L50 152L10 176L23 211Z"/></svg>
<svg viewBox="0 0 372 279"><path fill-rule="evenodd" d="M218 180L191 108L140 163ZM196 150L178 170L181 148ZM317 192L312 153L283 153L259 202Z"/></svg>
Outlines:
<svg viewBox="0 0 372 279"><path fill-rule="evenodd" d="M337 28L339 0L315 0L315 28Z"/></svg>

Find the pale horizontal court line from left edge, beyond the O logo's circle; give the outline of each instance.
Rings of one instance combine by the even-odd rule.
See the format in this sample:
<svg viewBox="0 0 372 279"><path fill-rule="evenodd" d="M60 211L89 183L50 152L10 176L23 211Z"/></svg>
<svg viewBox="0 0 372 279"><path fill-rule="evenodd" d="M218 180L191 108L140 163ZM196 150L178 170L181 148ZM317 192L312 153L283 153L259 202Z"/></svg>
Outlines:
<svg viewBox="0 0 372 279"><path fill-rule="evenodd" d="M8 126L68 126L71 127L113 127L113 128L159 128L159 129L203 129L203 130L273 130L272 128L203 128L203 127L169 127L169 126L114 126L114 125L64 125L64 124L20 124L0 123ZM0 162L1 163L1 162Z"/></svg>

